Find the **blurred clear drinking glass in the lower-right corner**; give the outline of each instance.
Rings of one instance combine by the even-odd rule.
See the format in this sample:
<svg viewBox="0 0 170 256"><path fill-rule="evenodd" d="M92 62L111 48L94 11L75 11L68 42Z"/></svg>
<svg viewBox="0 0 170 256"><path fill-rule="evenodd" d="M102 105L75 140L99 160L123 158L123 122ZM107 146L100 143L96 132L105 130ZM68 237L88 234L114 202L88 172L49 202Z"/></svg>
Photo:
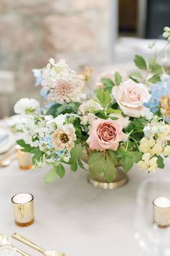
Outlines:
<svg viewBox="0 0 170 256"><path fill-rule="evenodd" d="M170 255L170 226L164 229L153 223L153 200L170 199L170 179L149 178L138 189L135 212L135 238L151 255ZM169 216L170 218L170 216Z"/></svg>

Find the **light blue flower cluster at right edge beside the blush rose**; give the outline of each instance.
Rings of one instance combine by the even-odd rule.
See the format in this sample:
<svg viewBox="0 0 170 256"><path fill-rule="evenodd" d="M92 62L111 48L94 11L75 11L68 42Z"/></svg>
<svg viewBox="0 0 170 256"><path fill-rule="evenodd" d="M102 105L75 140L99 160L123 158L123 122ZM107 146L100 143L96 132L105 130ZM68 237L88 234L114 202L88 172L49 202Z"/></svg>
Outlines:
<svg viewBox="0 0 170 256"><path fill-rule="evenodd" d="M161 82L151 85L150 90L151 99L145 103L145 106L155 113L159 109L161 97L164 95L170 96L170 75L163 75Z"/></svg>

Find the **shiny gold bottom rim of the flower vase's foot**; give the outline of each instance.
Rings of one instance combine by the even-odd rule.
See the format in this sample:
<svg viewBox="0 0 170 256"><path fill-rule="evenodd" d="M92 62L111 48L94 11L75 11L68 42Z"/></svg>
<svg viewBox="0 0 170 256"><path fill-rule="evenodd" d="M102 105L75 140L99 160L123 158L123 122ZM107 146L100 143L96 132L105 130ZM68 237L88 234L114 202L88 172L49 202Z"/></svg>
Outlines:
<svg viewBox="0 0 170 256"><path fill-rule="evenodd" d="M98 187L100 189L117 189L118 187L122 187L128 182L128 176L125 174L124 178L115 181L115 182L98 182L97 180L91 179L88 176L88 181L90 184L92 184L94 187Z"/></svg>

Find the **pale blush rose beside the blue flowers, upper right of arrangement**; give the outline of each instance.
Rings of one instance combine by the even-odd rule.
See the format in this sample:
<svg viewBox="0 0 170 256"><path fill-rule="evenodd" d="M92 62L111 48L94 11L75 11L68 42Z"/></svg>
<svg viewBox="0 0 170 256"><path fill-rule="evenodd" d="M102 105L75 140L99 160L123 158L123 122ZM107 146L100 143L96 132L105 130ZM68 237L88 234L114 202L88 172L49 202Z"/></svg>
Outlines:
<svg viewBox="0 0 170 256"><path fill-rule="evenodd" d="M112 95L120 106L122 112L128 116L146 116L149 108L143 106L151 98L148 89L143 84L127 80L121 85L112 88Z"/></svg>

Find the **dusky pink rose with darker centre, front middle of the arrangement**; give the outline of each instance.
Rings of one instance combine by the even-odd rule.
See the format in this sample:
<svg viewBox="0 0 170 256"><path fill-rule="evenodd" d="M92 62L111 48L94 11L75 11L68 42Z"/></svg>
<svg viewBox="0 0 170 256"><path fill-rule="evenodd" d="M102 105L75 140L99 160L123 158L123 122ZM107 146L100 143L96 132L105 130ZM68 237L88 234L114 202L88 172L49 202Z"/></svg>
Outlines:
<svg viewBox="0 0 170 256"><path fill-rule="evenodd" d="M117 150L119 142L126 137L122 132L121 121L96 119L92 121L89 139L86 142L90 150Z"/></svg>

